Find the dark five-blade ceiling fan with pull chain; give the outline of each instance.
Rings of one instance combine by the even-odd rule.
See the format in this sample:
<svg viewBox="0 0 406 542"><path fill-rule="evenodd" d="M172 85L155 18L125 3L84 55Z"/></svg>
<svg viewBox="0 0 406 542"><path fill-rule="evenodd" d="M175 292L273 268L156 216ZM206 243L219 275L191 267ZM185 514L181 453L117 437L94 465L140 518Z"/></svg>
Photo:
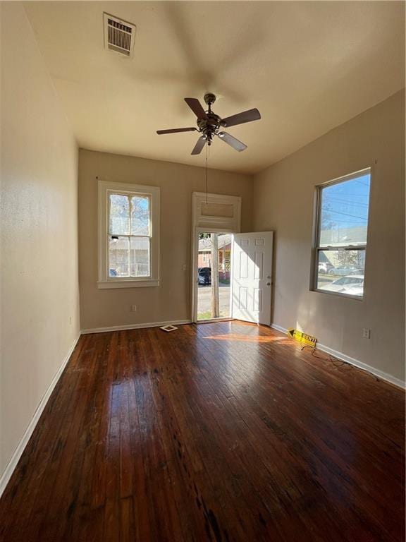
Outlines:
<svg viewBox="0 0 406 542"><path fill-rule="evenodd" d="M197 128L173 128L172 130L157 130L159 135L163 133L178 133L178 132L200 132L202 135L197 140L195 147L192 150L192 155L199 155L202 152L204 145L211 145L214 135L217 135L224 143L227 143L233 149L241 152L247 148L247 145L241 143L238 139L234 138L227 132L220 131L220 128L228 126L235 126L237 124L244 124L245 122L258 121L261 119L261 114L258 109L249 109L236 115L221 119L219 115L216 115L211 111L211 105L216 102L216 96L210 92L204 95L204 102L207 103L209 109L204 111L202 104L200 104L197 98L185 98L185 102L192 109L192 112L197 116Z"/></svg>

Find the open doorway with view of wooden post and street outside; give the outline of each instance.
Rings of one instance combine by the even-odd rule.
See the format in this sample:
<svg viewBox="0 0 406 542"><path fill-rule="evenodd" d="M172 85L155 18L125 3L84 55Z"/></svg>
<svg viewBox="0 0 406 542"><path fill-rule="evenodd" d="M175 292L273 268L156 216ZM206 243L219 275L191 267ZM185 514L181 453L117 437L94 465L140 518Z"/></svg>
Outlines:
<svg viewBox="0 0 406 542"><path fill-rule="evenodd" d="M197 232L197 322L230 318L232 234Z"/></svg>

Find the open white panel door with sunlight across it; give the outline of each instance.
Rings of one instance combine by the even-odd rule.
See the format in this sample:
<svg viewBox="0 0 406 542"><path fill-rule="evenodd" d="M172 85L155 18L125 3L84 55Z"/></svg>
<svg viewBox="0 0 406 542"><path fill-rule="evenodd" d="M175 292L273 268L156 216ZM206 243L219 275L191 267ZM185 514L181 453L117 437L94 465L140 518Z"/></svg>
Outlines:
<svg viewBox="0 0 406 542"><path fill-rule="evenodd" d="M231 315L237 320L271 325L273 231L235 234Z"/></svg>

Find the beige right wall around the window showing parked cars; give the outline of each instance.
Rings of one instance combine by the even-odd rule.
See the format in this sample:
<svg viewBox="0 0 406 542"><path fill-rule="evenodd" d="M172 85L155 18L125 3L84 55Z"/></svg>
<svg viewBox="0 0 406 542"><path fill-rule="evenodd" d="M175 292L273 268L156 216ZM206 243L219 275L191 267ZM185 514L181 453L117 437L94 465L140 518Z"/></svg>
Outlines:
<svg viewBox="0 0 406 542"><path fill-rule="evenodd" d="M405 379L404 92L255 176L254 229L276 232L273 323ZM363 301L309 291L314 186L373 167ZM371 339L362 339L362 327Z"/></svg>

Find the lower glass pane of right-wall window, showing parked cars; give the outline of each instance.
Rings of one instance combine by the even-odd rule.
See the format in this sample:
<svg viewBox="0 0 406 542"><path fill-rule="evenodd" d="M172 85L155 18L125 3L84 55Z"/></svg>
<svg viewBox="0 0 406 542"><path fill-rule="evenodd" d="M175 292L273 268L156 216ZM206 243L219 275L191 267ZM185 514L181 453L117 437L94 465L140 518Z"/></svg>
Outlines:
<svg viewBox="0 0 406 542"><path fill-rule="evenodd" d="M317 289L362 297L365 251L319 251Z"/></svg>

